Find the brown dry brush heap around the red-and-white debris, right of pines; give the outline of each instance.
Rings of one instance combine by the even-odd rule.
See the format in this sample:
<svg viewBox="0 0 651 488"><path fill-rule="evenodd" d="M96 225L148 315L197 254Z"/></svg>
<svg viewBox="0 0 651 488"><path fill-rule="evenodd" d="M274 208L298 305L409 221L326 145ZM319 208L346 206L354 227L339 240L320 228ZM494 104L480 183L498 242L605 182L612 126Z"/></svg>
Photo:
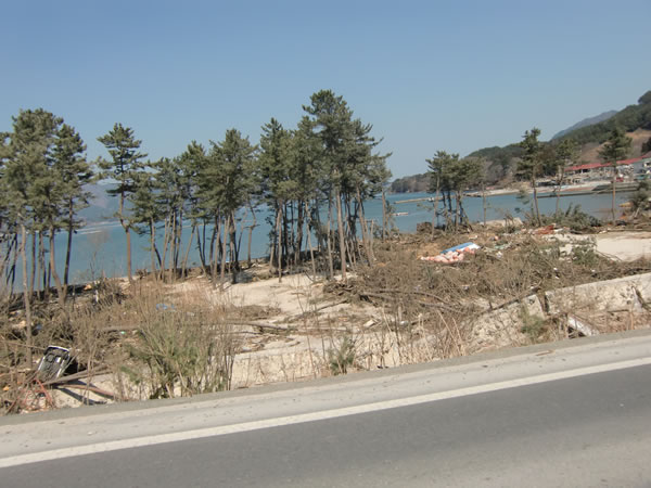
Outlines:
<svg viewBox="0 0 651 488"><path fill-rule="evenodd" d="M468 352L473 319L546 291L651 271L651 262L613 261L595 252L593 243L575 245L570 254L556 242L528 233L476 235L483 249L458 265L418 259L465 242L467 234L442 236L436 243L387 245L379 262L361 269L347 284L333 283L337 297L369 301L385 311L385 330L398 345L399 363L447 358ZM551 320L522 318L531 342L558 338ZM526 323L525 323L526 322ZM386 337L379 337L383 343Z"/></svg>

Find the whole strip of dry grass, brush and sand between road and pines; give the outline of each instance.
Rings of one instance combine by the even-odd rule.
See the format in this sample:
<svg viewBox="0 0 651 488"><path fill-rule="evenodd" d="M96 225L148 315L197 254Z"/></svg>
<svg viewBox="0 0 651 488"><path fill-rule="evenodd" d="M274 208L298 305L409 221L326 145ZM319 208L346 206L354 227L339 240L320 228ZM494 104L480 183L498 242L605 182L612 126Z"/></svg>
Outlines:
<svg viewBox="0 0 651 488"><path fill-rule="evenodd" d="M419 259L471 240L482 251L463 262ZM176 287L142 280L128 293L120 282L99 282L65 310L54 304L35 307L35 355L49 344L71 348L88 383L108 373L118 398L188 396L230 388L235 356L244 346L247 354L263 354L257 377L273 381L279 374L294 381L463 356L474 350L469 346L473 324L487 311L518 308L525 297L541 298L546 291L651 271L646 260L609 260L590 241L567 254L558 243L526 232L502 233L497 240L488 232L441 233L434 242L400 235L379 243L375 256L373 266L358 266L347 283L328 283L323 295L318 287L296 288L299 313L275 324L269 319L281 309L273 304L244 306L242 300L235 306L228 294L219 298L200 280ZM516 332L529 342L567 333L562 318L540 320L522 310ZM589 319L603 332L639 322L630 313L616 313ZM52 407L24 362L20 310L5 318L0 324L0 388L8 388L3 409ZM275 360L264 356L273 343L281 350L284 344L301 347Z"/></svg>

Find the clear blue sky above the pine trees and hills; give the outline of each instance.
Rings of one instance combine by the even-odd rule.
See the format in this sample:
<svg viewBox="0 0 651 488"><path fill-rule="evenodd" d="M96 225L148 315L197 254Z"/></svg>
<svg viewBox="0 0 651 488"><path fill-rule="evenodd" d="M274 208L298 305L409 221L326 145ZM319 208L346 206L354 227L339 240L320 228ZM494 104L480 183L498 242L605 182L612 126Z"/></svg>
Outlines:
<svg viewBox="0 0 651 488"><path fill-rule="evenodd" d="M437 150L548 139L651 90L650 0L5 1L0 130L21 108L88 144L119 121L151 158L231 127L257 142L332 89L395 177Z"/></svg>

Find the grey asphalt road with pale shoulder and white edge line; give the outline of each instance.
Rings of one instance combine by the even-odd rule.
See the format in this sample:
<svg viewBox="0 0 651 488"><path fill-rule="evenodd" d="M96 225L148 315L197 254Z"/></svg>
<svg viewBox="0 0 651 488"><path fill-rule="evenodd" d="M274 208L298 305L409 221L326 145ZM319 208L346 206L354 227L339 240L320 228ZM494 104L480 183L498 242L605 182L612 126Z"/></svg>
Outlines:
<svg viewBox="0 0 651 488"><path fill-rule="evenodd" d="M0 486L651 486L650 346L636 337L226 400L3 421ZM360 402L369 391L374 402ZM278 402L294 416L255 423L280 419L270 414ZM179 428L183 418L203 418L204 431L188 419L192 428ZM167 432L171 419L174 439L203 434L167 441L140 431ZM110 438L94 438L102 425ZM116 444L133 439L149 440Z"/></svg>

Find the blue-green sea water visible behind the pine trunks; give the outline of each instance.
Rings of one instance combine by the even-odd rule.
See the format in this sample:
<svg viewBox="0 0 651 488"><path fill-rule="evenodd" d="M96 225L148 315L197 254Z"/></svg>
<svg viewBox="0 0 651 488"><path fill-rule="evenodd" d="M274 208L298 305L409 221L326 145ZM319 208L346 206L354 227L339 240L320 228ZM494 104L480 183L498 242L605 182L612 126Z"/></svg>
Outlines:
<svg viewBox="0 0 651 488"><path fill-rule="evenodd" d="M394 213L406 215L394 215L393 222L400 231L414 232L419 222L432 221L432 204L427 202L411 202L396 204L397 201L426 198L432 196L426 193L405 193L387 195L387 201L393 205ZM617 204L629 198L630 194L618 194ZM561 208L565 210L570 205L580 205L582 209L598 218L608 219L611 208L611 195L582 195L564 196L560 201ZM486 218L500 219L506 215L522 217L518 209L523 207L515 195L498 195L487 198ZM552 214L556 210L556 198L539 198L538 205L541 214ZM463 207L471 221L483 220L482 198L465 197ZM379 226L382 224L382 200L375 198L365 203L365 213L367 219L373 219ZM257 213L258 227L254 229L252 239L252 257L263 257L269 254L268 241L270 227L266 222L267 211ZM183 255L188 240L190 239L190 224L186 223L183 228ZM162 231L159 231L162 237ZM67 234L60 233L55 240L55 253L58 270L63 277L63 264L65 260L65 246ZM314 244L314 240L312 240ZM247 231L244 231L240 251L240 258L246 258ZM131 261L133 272L138 269L149 269L151 267L151 257L149 252L149 236L138 235L131 232ZM118 222L90 226L80 229L73 239L73 254L71 259L71 281L73 283L87 282L99 279L102 275L107 278L126 275L126 241L125 233ZM196 266L200 262L196 251L196 237L192 243L189 256L189 266ZM18 261L16 269L15 290L21 290L21 266Z"/></svg>

